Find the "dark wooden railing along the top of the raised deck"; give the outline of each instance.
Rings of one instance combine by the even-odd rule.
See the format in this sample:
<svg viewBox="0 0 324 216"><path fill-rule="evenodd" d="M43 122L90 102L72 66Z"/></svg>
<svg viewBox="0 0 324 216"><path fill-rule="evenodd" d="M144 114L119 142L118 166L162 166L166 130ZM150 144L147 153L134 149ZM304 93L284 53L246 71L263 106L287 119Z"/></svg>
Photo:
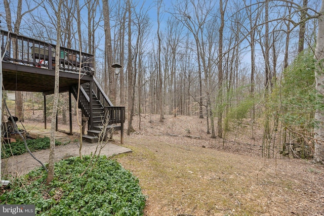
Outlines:
<svg viewBox="0 0 324 216"><path fill-rule="evenodd" d="M4 61L35 66L39 68L55 69L56 45L30 37L1 30L1 54ZM94 55L60 47L60 70L64 72L78 72L93 75Z"/></svg>

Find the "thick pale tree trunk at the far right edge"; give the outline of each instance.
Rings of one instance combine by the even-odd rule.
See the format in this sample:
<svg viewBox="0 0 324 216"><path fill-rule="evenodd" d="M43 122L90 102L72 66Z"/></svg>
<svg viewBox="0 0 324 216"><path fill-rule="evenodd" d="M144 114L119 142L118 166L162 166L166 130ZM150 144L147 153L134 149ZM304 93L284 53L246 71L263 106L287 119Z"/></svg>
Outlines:
<svg viewBox="0 0 324 216"><path fill-rule="evenodd" d="M323 59L324 59L324 0L322 0L320 8L320 16L318 17L318 33L317 43L315 48L316 69L315 69L315 88L321 96L318 98L320 103L323 103L322 96L324 95L324 74L323 74ZM319 122L314 128L315 152L313 162L324 164L324 114L322 110L316 109L315 120Z"/></svg>

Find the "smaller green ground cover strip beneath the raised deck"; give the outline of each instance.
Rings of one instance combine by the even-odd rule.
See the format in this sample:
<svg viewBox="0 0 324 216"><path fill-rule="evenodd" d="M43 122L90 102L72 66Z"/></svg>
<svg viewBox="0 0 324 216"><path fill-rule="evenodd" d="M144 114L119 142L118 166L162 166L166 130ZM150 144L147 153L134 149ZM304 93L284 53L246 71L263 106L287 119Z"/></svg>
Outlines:
<svg viewBox="0 0 324 216"><path fill-rule="evenodd" d="M48 137L26 140L26 143L31 152L50 148L50 138ZM62 145L62 143L55 141L55 145L59 146ZM28 152L23 141L11 144L4 143L1 150L1 158L8 158L13 155L21 155Z"/></svg>

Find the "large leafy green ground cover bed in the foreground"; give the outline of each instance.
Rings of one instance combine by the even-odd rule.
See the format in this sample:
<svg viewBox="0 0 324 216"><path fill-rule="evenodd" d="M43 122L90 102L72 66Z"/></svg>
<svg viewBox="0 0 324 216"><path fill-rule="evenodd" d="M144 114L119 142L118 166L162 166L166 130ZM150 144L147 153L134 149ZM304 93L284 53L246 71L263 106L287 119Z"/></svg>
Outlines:
<svg viewBox="0 0 324 216"><path fill-rule="evenodd" d="M0 196L2 204L34 204L36 215L143 215L139 180L106 156L61 160L52 183L46 185L46 178L38 168L15 179Z"/></svg>

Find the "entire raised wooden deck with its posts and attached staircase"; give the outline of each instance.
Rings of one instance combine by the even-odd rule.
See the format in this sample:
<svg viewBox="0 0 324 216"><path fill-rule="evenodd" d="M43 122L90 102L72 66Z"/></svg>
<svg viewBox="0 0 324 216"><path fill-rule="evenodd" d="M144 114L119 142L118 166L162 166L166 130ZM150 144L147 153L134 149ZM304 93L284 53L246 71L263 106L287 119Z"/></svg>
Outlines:
<svg viewBox="0 0 324 216"><path fill-rule="evenodd" d="M78 98L78 108L88 119L88 132L83 136L85 141L107 141L113 131L121 131L120 142L124 142L125 107L113 106L101 89L94 76L94 55L60 47L60 55L56 56L54 44L4 30L0 32L5 90L42 92L46 113L46 96L54 93L55 60L59 58L59 92L69 92L70 134L73 95L75 99ZM44 114L45 129L46 122Z"/></svg>

